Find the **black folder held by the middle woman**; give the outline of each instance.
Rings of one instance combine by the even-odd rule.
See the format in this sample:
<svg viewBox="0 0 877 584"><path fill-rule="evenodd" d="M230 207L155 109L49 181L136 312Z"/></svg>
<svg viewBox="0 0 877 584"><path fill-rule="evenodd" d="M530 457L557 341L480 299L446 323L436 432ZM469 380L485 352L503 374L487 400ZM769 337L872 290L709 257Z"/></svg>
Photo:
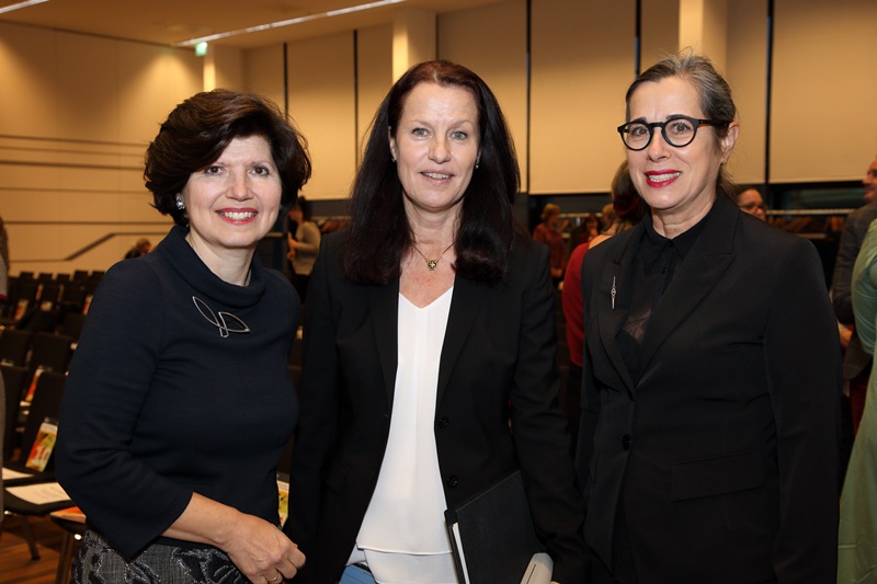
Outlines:
<svg viewBox="0 0 877 584"><path fill-rule="evenodd" d="M521 471L445 512L460 584L520 584L536 536Z"/></svg>

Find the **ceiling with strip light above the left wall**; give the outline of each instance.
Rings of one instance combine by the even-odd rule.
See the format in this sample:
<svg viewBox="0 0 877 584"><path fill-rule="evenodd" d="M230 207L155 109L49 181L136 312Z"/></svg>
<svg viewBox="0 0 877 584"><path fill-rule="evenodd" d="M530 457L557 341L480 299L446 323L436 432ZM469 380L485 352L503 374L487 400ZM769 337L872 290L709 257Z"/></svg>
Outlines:
<svg viewBox="0 0 877 584"><path fill-rule="evenodd" d="M0 8L19 1L21 0L0 0ZM49 0L0 14L0 22L173 45L190 38L321 14L372 1L374 0ZM405 0L397 4L232 36L215 43L253 48L390 23L394 13L406 9L441 13L498 1L500 0Z"/></svg>

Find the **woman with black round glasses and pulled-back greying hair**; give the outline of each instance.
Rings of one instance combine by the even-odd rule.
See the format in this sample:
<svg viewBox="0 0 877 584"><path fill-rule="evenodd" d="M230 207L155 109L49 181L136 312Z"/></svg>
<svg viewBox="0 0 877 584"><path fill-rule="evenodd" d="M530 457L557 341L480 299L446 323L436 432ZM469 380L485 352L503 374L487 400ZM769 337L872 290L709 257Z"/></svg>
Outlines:
<svg viewBox="0 0 877 584"><path fill-rule="evenodd" d="M626 101L651 216L582 267L592 582L833 582L840 346L816 250L732 202L739 125L707 58L658 62Z"/></svg>

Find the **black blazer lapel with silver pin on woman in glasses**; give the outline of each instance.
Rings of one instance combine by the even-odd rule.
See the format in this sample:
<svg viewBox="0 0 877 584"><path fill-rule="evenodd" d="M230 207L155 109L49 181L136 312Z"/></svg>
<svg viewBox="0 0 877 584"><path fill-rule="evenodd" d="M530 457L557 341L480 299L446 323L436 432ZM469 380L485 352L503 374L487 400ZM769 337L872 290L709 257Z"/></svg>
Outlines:
<svg viewBox="0 0 877 584"><path fill-rule="evenodd" d="M627 371L627 366L622 358L615 337L630 309L630 273L637 242L642 237L642 230L643 226L641 224L635 227L634 232L627 239L627 243L618 250L618 253L603 268L597 291L600 339L603 342L603 348L610 362L612 362L618 377L622 378L630 392L635 389L634 381Z"/></svg>

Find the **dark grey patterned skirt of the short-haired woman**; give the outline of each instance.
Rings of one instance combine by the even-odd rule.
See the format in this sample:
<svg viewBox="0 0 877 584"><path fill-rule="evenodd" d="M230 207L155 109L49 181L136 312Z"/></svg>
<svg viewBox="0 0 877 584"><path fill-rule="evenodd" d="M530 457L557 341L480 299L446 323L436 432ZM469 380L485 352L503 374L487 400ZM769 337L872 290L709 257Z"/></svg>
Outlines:
<svg viewBox="0 0 877 584"><path fill-rule="evenodd" d="M249 583L228 556L216 548L155 543L128 562L91 529L82 537L71 572L71 584Z"/></svg>

